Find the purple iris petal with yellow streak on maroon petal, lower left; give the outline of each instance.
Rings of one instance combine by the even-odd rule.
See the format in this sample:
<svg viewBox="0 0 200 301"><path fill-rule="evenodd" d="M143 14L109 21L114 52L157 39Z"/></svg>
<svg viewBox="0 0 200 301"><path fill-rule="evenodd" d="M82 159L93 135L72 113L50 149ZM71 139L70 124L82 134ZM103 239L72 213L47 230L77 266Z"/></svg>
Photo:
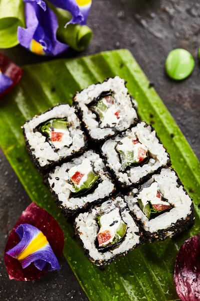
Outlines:
<svg viewBox="0 0 200 301"><path fill-rule="evenodd" d="M6 254L18 259L22 268L31 262L39 270L51 271L60 268L51 246L41 231L29 224L21 224L15 231L21 240Z"/></svg>

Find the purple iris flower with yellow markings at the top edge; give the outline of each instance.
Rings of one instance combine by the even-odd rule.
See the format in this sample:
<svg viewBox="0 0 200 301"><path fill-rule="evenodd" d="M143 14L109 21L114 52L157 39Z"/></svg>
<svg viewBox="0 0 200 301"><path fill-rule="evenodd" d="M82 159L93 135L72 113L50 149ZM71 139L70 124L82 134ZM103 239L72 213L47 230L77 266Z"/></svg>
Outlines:
<svg viewBox="0 0 200 301"><path fill-rule="evenodd" d="M31 52L39 55L57 55L69 46L59 42L56 38L58 28L57 17L42 0L23 0L25 2L26 28L18 27L19 43ZM72 19L67 23L84 25L88 16L91 0L49 0L57 8L67 10ZM88 3L87 3L88 2ZM82 12L81 12L82 11Z"/></svg>

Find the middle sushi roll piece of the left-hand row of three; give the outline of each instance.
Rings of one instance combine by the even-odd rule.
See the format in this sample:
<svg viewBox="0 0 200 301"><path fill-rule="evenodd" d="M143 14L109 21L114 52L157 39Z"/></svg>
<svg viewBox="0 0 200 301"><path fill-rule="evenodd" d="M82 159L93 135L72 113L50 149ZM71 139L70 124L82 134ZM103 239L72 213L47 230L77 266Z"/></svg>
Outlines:
<svg viewBox="0 0 200 301"><path fill-rule="evenodd" d="M46 182L66 217L108 198L115 190L102 159L93 150L56 166Z"/></svg>

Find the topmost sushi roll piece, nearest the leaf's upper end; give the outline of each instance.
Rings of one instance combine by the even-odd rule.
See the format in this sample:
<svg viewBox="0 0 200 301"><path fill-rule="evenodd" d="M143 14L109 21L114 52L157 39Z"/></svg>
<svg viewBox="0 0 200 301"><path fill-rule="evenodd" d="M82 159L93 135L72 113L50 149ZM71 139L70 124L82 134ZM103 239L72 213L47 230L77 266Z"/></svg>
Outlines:
<svg viewBox="0 0 200 301"><path fill-rule="evenodd" d="M132 97L118 76L90 85L76 93L73 100L89 137L95 141L113 136L137 121Z"/></svg>

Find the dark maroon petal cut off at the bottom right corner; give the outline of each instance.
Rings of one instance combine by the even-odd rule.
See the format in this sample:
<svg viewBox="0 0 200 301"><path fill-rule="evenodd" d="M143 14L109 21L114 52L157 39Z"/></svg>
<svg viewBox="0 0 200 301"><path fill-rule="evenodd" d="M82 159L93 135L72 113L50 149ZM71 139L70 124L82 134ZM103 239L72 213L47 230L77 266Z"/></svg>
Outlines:
<svg viewBox="0 0 200 301"><path fill-rule="evenodd" d="M185 240L180 247L173 280L181 301L200 300L200 233Z"/></svg>

